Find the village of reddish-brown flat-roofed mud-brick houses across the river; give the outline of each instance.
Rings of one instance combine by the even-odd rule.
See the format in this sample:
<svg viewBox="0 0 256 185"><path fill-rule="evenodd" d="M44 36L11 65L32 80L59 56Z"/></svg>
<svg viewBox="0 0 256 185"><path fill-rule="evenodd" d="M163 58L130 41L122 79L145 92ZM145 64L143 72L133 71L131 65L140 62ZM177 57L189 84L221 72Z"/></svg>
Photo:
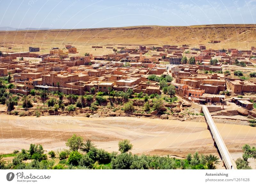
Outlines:
<svg viewBox="0 0 256 185"><path fill-rule="evenodd" d="M149 81L149 75L170 75L174 78L176 94L187 100L198 103L218 103L225 101L229 92L256 93L256 84L243 79L231 78L225 74L217 73L222 70L223 63L232 64L236 59L245 61L247 65L256 62L256 48L251 50L206 49L204 45L199 48L190 48L185 44L181 47L164 45L162 47L123 48L120 51L93 56L68 56L68 53L77 53L71 45L65 46L68 52L60 48L52 48L47 55L37 55L39 48L29 47L30 52L8 53L0 57L0 76L13 74L12 83L15 84L16 93L28 94L31 89L44 89L83 95L91 91L108 92L127 91L132 89L136 93L161 94L160 86L155 81ZM108 47L112 48L112 47ZM190 49L189 52L185 52ZM149 50L151 52L148 55ZM146 54L146 55L144 55ZM28 60L18 60L19 57L41 57L38 64ZM195 58L194 64L181 63L182 57ZM218 62L211 64L212 57ZM160 61L165 61L171 67L161 67ZM212 73L202 73L209 70ZM239 101L240 102L240 101ZM248 101L241 101L246 102ZM240 103L241 103L240 102ZM243 105L243 107L248 105Z"/></svg>

